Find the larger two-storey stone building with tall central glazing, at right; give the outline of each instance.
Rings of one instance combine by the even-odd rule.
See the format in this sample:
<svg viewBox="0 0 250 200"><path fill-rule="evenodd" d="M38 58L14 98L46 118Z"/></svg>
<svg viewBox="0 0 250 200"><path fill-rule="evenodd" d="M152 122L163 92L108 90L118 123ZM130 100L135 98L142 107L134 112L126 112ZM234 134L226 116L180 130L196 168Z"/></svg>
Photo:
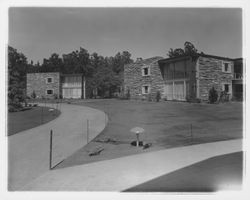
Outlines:
<svg viewBox="0 0 250 200"><path fill-rule="evenodd" d="M236 67L237 66L237 67ZM214 87L229 98L242 98L242 59L197 54L162 59L153 57L125 65L124 88L131 98L154 97L161 93L165 100L207 101Z"/></svg>

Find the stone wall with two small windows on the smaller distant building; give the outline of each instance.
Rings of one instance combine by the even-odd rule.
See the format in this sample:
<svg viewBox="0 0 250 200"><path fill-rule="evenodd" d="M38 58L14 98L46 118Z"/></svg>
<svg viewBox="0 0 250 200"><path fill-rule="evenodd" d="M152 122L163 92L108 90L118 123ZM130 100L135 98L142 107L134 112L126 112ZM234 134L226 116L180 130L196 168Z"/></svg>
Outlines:
<svg viewBox="0 0 250 200"><path fill-rule="evenodd" d="M47 83L47 78L52 78L52 83ZM47 95L47 90L53 90L52 95ZM60 73L28 73L27 74L27 95L31 96L35 91L37 98L53 98L54 94L60 95Z"/></svg>

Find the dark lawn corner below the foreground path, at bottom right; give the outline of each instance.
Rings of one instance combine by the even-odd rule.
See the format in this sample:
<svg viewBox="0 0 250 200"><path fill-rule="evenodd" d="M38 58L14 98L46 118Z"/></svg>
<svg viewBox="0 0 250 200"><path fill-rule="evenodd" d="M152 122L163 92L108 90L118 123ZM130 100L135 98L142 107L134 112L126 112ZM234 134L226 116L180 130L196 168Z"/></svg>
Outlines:
<svg viewBox="0 0 250 200"><path fill-rule="evenodd" d="M216 156L142 183L126 192L216 192L239 190L243 153Z"/></svg>

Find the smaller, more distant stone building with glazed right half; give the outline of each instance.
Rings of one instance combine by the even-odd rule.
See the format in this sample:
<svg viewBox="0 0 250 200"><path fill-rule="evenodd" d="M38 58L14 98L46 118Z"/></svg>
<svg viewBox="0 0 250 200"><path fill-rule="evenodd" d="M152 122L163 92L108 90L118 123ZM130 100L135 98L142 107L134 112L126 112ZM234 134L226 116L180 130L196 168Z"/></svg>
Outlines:
<svg viewBox="0 0 250 200"><path fill-rule="evenodd" d="M81 74L59 72L28 73L26 93L37 98L84 98L84 81Z"/></svg>

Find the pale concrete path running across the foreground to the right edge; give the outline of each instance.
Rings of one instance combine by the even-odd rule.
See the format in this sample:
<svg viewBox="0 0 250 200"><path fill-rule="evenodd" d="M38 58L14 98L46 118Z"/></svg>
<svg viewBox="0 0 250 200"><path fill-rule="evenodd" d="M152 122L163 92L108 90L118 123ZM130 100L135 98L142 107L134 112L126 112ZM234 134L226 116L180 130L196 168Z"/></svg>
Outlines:
<svg viewBox="0 0 250 200"><path fill-rule="evenodd" d="M124 191L202 160L238 151L242 151L241 139L149 152L48 171L22 190Z"/></svg>

